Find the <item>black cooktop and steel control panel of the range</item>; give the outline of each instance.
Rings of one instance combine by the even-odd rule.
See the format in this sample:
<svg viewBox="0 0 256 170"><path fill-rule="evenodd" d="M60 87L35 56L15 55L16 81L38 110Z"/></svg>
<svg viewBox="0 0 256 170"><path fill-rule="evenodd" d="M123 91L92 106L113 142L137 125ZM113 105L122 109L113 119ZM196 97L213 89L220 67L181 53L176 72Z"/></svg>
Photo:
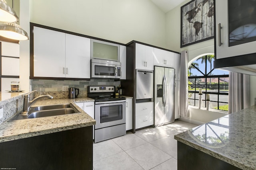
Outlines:
<svg viewBox="0 0 256 170"><path fill-rule="evenodd" d="M115 86L88 86L88 98L95 102L125 100L121 96L115 96Z"/></svg>

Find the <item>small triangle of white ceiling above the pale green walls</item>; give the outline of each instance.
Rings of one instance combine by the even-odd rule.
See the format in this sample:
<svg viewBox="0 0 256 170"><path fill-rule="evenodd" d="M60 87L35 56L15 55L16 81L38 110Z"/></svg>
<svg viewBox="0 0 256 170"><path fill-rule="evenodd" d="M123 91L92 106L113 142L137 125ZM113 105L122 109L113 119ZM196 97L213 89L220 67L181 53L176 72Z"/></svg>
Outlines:
<svg viewBox="0 0 256 170"><path fill-rule="evenodd" d="M186 0L151 0L163 12L168 12Z"/></svg>

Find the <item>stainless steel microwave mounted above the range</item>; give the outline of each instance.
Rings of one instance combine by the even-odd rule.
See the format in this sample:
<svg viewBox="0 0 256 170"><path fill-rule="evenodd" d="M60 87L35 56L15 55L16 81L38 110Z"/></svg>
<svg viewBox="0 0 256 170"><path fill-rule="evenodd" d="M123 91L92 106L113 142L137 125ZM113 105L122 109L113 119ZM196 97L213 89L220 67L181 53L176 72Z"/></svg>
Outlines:
<svg viewBox="0 0 256 170"><path fill-rule="evenodd" d="M114 64L92 63L92 78L121 78L121 66Z"/></svg>

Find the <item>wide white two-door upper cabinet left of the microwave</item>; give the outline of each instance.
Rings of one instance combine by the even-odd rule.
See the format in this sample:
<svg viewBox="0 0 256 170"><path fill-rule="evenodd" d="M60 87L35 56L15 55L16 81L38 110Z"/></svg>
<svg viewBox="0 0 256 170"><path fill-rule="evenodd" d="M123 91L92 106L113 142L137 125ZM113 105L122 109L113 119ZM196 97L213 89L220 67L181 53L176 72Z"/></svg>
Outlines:
<svg viewBox="0 0 256 170"><path fill-rule="evenodd" d="M34 27L34 77L90 78L90 39Z"/></svg>

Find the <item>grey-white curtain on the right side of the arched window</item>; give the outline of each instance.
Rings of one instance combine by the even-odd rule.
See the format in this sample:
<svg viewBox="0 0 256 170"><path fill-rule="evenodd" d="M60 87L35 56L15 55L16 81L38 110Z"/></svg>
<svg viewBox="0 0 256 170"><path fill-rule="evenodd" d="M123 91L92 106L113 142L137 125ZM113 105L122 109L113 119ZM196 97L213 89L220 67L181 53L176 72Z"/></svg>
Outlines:
<svg viewBox="0 0 256 170"><path fill-rule="evenodd" d="M228 113L250 106L250 76L229 72Z"/></svg>

